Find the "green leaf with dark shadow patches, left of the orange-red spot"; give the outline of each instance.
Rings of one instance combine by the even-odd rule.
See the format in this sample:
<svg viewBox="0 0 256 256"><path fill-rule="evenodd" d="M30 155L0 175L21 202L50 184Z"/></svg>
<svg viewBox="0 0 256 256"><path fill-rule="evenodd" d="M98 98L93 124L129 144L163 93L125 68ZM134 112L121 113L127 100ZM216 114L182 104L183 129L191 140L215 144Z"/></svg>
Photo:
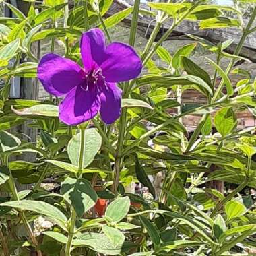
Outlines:
<svg viewBox="0 0 256 256"><path fill-rule="evenodd" d="M98 199L90 182L83 178L67 177L61 185L61 194L71 203L79 217L90 210Z"/></svg>

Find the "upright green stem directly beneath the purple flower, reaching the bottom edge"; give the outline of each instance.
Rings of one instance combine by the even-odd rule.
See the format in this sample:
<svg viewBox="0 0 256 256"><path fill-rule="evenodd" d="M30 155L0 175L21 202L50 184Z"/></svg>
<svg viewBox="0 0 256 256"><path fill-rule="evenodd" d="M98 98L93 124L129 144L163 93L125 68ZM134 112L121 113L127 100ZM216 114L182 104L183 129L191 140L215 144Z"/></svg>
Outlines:
<svg viewBox="0 0 256 256"><path fill-rule="evenodd" d="M84 168L84 150L85 150L85 139L86 139L86 130L84 127L79 127L80 133L81 133L81 139L80 139L80 150L79 150L79 162L78 162L78 179L82 177L82 170ZM72 213L71 213L71 220L70 220L70 228L69 228L69 236L67 238L67 245L65 248L65 256L71 255L71 246L73 241L73 236L75 234L75 221L76 221L76 213L75 209L72 207Z"/></svg>

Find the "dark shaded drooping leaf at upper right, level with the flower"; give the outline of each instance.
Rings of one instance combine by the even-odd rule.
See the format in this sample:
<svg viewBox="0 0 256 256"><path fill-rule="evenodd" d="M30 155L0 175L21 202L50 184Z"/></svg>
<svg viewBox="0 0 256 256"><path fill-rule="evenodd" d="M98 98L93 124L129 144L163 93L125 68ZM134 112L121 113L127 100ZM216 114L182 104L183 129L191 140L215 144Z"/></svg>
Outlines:
<svg viewBox="0 0 256 256"><path fill-rule="evenodd" d="M208 75L207 72L201 69L199 65L195 64L193 61L191 61L191 59L185 56L182 57L181 63L182 63L183 69L187 72L187 74L200 77L209 86L211 86L211 88L213 88L210 76Z"/></svg>

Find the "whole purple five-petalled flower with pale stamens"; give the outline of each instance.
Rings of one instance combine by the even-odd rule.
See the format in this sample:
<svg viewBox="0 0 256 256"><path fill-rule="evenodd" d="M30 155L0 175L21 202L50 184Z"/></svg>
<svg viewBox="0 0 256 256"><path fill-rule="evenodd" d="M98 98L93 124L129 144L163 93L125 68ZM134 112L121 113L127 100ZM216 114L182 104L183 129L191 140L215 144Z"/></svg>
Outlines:
<svg viewBox="0 0 256 256"><path fill-rule="evenodd" d="M38 79L50 94L65 95L59 105L59 118L64 123L83 123L98 111L105 123L113 123L121 113L122 91L116 83L137 77L141 59L127 44L113 42L106 46L104 33L98 28L82 35L80 47L84 69L49 53L40 60Z"/></svg>

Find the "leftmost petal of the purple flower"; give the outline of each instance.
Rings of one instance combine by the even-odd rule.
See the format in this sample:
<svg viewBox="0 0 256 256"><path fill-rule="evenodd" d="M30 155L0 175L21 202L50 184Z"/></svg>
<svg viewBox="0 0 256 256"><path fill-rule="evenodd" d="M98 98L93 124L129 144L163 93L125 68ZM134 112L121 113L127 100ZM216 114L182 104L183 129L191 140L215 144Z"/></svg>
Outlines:
<svg viewBox="0 0 256 256"><path fill-rule="evenodd" d="M38 64L38 79L46 92L55 96L67 94L82 82L81 67L55 53L44 55Z"/></svg>

